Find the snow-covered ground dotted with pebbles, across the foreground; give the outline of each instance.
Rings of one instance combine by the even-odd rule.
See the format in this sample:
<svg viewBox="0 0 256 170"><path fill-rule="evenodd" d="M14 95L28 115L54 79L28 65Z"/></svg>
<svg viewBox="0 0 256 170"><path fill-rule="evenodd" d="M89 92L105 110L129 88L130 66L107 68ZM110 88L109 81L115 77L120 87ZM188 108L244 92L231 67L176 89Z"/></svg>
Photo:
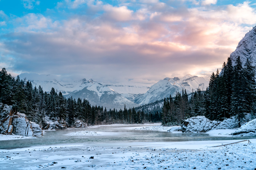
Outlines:
<svg viewBox="0 0 256 170"><path fill-rule="evenodd" d="M0 169L247 169L256 168L256 139L111 142L0 150ZM60 156L61 155L61 156ZM92 159L93 158L93 159Z"/></svg>

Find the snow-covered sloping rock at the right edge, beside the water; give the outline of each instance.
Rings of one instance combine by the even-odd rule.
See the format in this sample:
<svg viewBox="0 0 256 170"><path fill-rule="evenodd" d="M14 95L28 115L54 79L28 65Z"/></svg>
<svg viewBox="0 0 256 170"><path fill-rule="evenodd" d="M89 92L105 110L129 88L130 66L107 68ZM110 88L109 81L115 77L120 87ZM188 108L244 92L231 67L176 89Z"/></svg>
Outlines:
<svg viewBox="0 0 256 170"><path fill-rule="evenodd" d="M256 136L256 119L251 120L238 128L232 135L236 136Z"/></svg>

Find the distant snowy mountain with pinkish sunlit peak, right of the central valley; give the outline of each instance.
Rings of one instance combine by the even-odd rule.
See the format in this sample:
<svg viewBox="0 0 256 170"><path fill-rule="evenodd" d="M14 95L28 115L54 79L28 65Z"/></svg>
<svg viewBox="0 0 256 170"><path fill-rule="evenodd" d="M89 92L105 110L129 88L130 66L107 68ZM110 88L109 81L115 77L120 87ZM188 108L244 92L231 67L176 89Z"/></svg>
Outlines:
<svg viewBox="0 0 256 170"><path fill-rule="evenodd" d="M205 80L203 77L190 74L181 79L178 77L165 78L151 86L145 94L135 98L134 102L140 105L151 103L156 100L161 100L164 97L169 97L170 95L175 96L176 92L181 92L182 89L186 89L187 93L192 92L192 90L195 91L196 89L205 90L208 84L209 81Z"/></svg>

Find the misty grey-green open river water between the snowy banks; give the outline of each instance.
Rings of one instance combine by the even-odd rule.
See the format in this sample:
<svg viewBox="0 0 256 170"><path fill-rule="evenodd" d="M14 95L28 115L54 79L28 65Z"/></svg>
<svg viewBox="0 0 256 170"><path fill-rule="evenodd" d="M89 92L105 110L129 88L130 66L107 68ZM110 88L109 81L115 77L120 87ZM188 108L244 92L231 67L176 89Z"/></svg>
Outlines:
<svg viewBox="0 0 256 170"><path fill-rule="evenodd" d="M134 130L133 127L145 125L108 125L86 129L70 129L59 131L46 131L44 137L22 140L0 141L0 149L15 149L30 146L82 144L101 145L102 143L122 142L177 142L177 141L204 141L204 140L234 140L248 139L248 137L214 137L205 133L172 133L168 131ZM150 126L150 125L147 125ZM68 136L74 131L95 131L101 135L96 136ZM256 137L250 137L256 138Z"/></svg>

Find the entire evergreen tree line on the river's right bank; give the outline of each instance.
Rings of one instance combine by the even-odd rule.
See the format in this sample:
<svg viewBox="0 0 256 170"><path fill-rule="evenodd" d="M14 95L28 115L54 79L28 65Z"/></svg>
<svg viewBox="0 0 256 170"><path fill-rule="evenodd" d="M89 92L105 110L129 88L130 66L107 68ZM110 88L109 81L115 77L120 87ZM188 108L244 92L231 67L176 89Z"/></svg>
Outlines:
<svg viewBox="0 0 256 170"><path fill-rule="evenodd" d="M180 124L193 116L219 121L235 116L240 127L247 113L256 118L255 102L255 66L249 59L243 66L240 57L237 57L233 66L232 60L228 58L221 74L218 69L216 74L212 73L206 91L197 89L188 96L186 90L182 90L182 94L178 92L175 97L164 99L162 123Z"/></svg>

